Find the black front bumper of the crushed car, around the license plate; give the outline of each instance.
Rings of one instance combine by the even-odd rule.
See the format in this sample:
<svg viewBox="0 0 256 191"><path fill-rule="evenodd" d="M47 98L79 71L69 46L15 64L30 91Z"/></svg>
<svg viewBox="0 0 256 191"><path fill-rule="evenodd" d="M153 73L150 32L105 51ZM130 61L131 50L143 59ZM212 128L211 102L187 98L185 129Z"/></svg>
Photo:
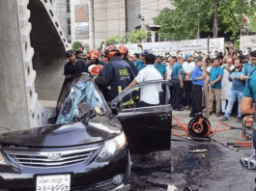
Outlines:
<svg viewBox="0 0 256 191"><path fill-rule="evenodd" d="M61 168L28 168L8 162L0 166L0 189L36 190L36 177L71 174L71 190L128 190L130 157L128 146L119 150L107 161L96 161L100 149L84 163ZM113 177L123 175L120 184L113 183Z"/></svg>

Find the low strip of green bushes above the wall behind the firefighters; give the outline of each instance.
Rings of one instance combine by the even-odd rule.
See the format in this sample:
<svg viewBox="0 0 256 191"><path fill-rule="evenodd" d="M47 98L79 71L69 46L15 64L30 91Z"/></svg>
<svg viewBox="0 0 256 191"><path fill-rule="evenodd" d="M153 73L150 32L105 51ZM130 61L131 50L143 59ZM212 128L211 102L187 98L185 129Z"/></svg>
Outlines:
<svg viewBox="0 0 256 191"><path fill-rule="evenodd" d="M147 39L149 35L149 31L145 30L133 30L130 33L127 33L124 36L111 36L107 38L104 43L109 44L109 43L114 43L114 42L119 42L119 43L137 43L140 42L144 39Z"/></svg>

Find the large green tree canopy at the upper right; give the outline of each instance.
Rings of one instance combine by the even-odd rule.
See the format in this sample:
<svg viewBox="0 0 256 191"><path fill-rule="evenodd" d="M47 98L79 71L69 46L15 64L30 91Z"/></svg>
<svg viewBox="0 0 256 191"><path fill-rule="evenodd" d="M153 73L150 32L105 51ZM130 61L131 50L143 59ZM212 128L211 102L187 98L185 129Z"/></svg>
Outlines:
<svg viewBox="0 0 256 191"><path fill-rule="evenodd" d="M217 0L218 31L232 32L232 40L239 40L241 14L253 17L256 0ZM175 10L163 10L154 18L161 25L159 33L168 40L195 39L197 32L213 31L214 0L174 0Z"/></svg>

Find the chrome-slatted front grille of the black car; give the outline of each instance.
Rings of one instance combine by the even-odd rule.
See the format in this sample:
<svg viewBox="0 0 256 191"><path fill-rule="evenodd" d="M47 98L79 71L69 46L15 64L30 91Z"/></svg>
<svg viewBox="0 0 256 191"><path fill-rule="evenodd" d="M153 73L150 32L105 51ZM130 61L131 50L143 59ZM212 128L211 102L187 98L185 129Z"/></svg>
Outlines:
<svg viewBox="0 0 256 191"><path fill-rule="evenodd" d="M100 146L63 151L5 150L19 165L35 168L56 168L85 162Z"/></svg>

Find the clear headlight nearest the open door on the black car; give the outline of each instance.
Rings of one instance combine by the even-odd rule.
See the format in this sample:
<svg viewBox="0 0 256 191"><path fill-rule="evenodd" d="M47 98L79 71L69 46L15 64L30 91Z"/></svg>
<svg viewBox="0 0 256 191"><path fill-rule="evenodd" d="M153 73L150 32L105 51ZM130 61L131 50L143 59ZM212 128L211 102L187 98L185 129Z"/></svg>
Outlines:
<svg viewBox="0 0 256 191"><path fill-rule="evenodd" d="M110 156L114 155L118 150L121 150L122 148L124 148L127 145L127 143L128 143L127 137L125 135L125 132L123 131L120 135L118 135L114 139L111 139L104 143L104 146L100 150L98 158L99 159L109 158Z"/></svg>

